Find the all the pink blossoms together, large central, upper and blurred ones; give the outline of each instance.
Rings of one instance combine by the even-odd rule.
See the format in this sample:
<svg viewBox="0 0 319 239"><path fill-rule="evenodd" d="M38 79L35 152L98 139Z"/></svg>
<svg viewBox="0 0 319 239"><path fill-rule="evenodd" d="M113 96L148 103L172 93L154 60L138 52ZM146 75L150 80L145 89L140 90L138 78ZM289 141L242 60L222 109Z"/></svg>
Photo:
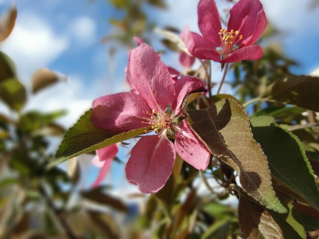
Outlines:
<svg viewBox="0 0 319 239"><path fill-rule="evenodd" d="M222 27L215 1L200 0L198 25L202 36L188 29L181 34L189 51L181 52L181 65L190 68L195 58L222 64L258 59L262 50L254 43L266 24L258 0L238 1L230 10L227 28ZM126 176L143 193L155 193L172 173L176 154L196 169L207 168L210 153L192 131L184 109L185 97L207 89L201 79L180 76L149 45L140 39L136 41L139 47L129 52L126 68L131 92L95 99L92 122L114 132L148 127L146 135L131 150ZM94 186L103 180L117 152L116 145L97 151L93 162L102 169Z"/></svg>

